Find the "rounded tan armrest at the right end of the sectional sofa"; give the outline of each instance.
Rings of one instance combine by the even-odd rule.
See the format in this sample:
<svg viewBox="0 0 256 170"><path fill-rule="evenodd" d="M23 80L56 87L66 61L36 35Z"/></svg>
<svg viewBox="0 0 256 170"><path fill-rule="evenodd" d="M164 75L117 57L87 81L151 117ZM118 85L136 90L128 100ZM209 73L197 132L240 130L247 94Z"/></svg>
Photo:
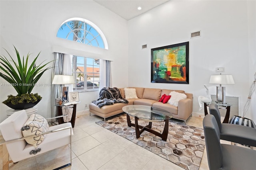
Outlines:
<svg viewBox="0 0 256 170"><path fill-rule="evenodd" d="M190 98L182 99L178 102L178 115L180 119L186 120L192 113L193 100Z"/></svg>

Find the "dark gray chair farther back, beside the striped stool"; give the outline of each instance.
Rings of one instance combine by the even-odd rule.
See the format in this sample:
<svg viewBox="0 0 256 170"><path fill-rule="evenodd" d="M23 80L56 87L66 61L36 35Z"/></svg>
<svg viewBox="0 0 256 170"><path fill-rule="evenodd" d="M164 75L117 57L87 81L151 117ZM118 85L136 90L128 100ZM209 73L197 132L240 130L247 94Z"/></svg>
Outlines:
<svg viewBox="0 0 256 170"><path fill-rule="evenodd" d="M211 115L214 115L218 123L220 139L256 147L256 129L242 125L221 123L220 111L216 104L210 104L209 111Z"/></svg>

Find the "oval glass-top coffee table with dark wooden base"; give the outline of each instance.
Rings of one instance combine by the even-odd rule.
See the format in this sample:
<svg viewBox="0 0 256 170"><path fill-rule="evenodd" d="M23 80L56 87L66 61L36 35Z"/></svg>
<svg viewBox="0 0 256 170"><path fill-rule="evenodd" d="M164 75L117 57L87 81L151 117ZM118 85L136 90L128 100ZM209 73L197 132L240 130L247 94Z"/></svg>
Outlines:
<svg viewBox="0 0 256 170"><path fill-rule="evenodd" d="M164 109L144 105L128 105L124 106L122 109L126 113L128 127L135 127L136 138L139 138L142 132L148 131L158 137L161 137L163 141L166 141L169 129L169 119L172 118L172 113ZM134 117L134 123L131 123L130 116ZM138 124L138 120L148 121L149 124L141 126ZM165 122L162 134L151 129L152 122L162 121Z"/></svg>

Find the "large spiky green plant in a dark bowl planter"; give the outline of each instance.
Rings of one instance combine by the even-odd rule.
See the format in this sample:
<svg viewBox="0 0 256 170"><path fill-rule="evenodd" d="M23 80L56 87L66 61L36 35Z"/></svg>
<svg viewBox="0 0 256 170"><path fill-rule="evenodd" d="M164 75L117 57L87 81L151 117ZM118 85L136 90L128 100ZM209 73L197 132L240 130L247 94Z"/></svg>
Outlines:
<svg viewBox="0 0 256 170"><path fill-rule="evenodd" d="M8 53L6 49L4 49L9 55L10 59L8 60L4 55L0 56L0 76L4 78L9 84L8 86L14 87L18 94L16 96L9 95L7 100L2 102L12 109L27 109L35 106L42 97L37 93L32 94L31 91L34 86L37 85L38 80L44 74L44 72L51 67L46 68L46 64L40 63L36 65L36 60L40 53L36 56L36 58L29 65L28 60L30 57L30 53L26 56L26 60L24 60L24 56L21 58L18 50L14 47L16 52L16 58L18 62L14 61L14 58Z"/></svg>

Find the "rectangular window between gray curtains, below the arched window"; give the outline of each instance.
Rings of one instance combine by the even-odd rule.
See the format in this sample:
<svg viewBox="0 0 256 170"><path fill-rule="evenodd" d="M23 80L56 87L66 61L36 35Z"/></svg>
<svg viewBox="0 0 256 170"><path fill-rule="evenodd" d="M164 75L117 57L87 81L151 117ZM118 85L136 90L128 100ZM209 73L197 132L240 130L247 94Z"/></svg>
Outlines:
<svg viewBox="0 0 256 170"><path fill-rule="evenodd" d="M100 60L73 55L72 73L76 75L73 90L98 90L100 85Z"/></svg>

